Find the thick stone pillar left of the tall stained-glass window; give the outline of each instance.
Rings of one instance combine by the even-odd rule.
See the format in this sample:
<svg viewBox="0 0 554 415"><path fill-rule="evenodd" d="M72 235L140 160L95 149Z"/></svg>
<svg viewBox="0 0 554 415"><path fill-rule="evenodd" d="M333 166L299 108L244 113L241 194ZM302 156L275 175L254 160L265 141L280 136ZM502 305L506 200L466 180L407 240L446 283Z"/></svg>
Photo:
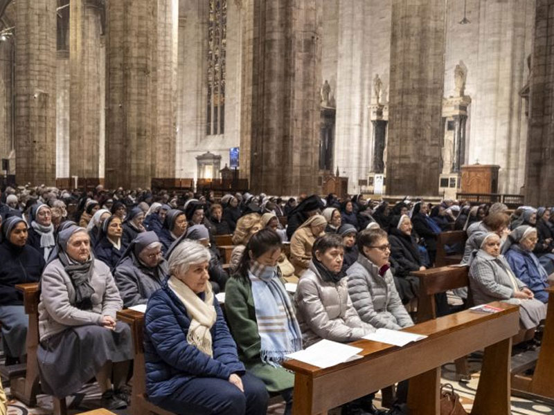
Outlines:
<svg viewBox="0 0 554 415"><path fill-rule="evenodd" d="M177 0L106 3L107 187L175 176L177 13Z"/></svg>

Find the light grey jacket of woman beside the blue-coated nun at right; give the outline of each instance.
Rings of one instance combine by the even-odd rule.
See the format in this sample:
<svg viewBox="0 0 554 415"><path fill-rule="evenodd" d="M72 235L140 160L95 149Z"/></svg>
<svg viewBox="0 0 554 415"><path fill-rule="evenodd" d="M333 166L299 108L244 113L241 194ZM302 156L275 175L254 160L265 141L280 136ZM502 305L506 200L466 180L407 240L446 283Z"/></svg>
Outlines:
<svg viewBox="0 0 554 415"><path fill-rule="evenodd" d="M510 274L519 290L526 286L512 273L503 255L493 257L484 250L474 255L470 266L470 286L475 304L512 298L514 286Z"/></svg>

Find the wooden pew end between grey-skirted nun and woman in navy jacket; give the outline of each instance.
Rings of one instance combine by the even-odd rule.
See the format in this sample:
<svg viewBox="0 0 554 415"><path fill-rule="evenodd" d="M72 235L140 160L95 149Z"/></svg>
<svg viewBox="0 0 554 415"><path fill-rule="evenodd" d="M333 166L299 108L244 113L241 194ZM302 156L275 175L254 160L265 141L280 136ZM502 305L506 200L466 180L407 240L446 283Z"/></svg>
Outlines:
<svg viewBox="0 0 554 415"><path fill-rule="evenodd" d="M130 407L131 415L172 415L172 412L157 407L146 398L146 371L143 342L144 314L139 311L125 309L118 311L117 318L129 324L133 335L134 361Z"/></svg>

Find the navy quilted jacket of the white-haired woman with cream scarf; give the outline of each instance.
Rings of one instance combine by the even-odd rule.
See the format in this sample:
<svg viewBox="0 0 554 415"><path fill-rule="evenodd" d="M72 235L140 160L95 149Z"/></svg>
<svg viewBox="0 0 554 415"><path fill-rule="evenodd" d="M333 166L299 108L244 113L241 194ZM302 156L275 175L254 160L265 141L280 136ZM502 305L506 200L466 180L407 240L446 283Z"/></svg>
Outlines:
<svg viewBox="0 0 554 415"><path fill-rule="evenodd" d="M228 380L231 374L244 374L237 346L215 297L213 304L217 319L211 328L211 358L186 341L190 317L167 283L150 297L144 316L144 358L146 391L153 403L171 396L195 377Z"/></svg>

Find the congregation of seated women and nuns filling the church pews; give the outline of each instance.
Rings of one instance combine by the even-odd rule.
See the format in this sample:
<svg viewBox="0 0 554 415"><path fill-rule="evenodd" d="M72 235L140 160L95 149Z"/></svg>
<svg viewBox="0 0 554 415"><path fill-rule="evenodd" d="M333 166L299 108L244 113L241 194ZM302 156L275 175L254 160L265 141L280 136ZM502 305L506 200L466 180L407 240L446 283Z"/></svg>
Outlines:
<svg viewBox="0 0 554 415"><path fill-rule="evenodd" d="M412 326L412 273L434 267L441 232L467 234L470 286L456 294L475 305L518 304L528 347L539 342L554 280L551 208L101 186L83 194L20 187L0 200L6 365L26 359L28 316L15 286L38 283L42 391L64 398L96 378L107 409L130 401L132 333L116 320L123 308L146 306L146 390L155 405L261 415L269 396L280 396L291 414L285 355ZM218 237L232 243L228 264ZM455 310L445 294L436 303L439 314ZM341 414L406 414L407 385L398 383L391 409L377 409L369 394Z"/></svg>

